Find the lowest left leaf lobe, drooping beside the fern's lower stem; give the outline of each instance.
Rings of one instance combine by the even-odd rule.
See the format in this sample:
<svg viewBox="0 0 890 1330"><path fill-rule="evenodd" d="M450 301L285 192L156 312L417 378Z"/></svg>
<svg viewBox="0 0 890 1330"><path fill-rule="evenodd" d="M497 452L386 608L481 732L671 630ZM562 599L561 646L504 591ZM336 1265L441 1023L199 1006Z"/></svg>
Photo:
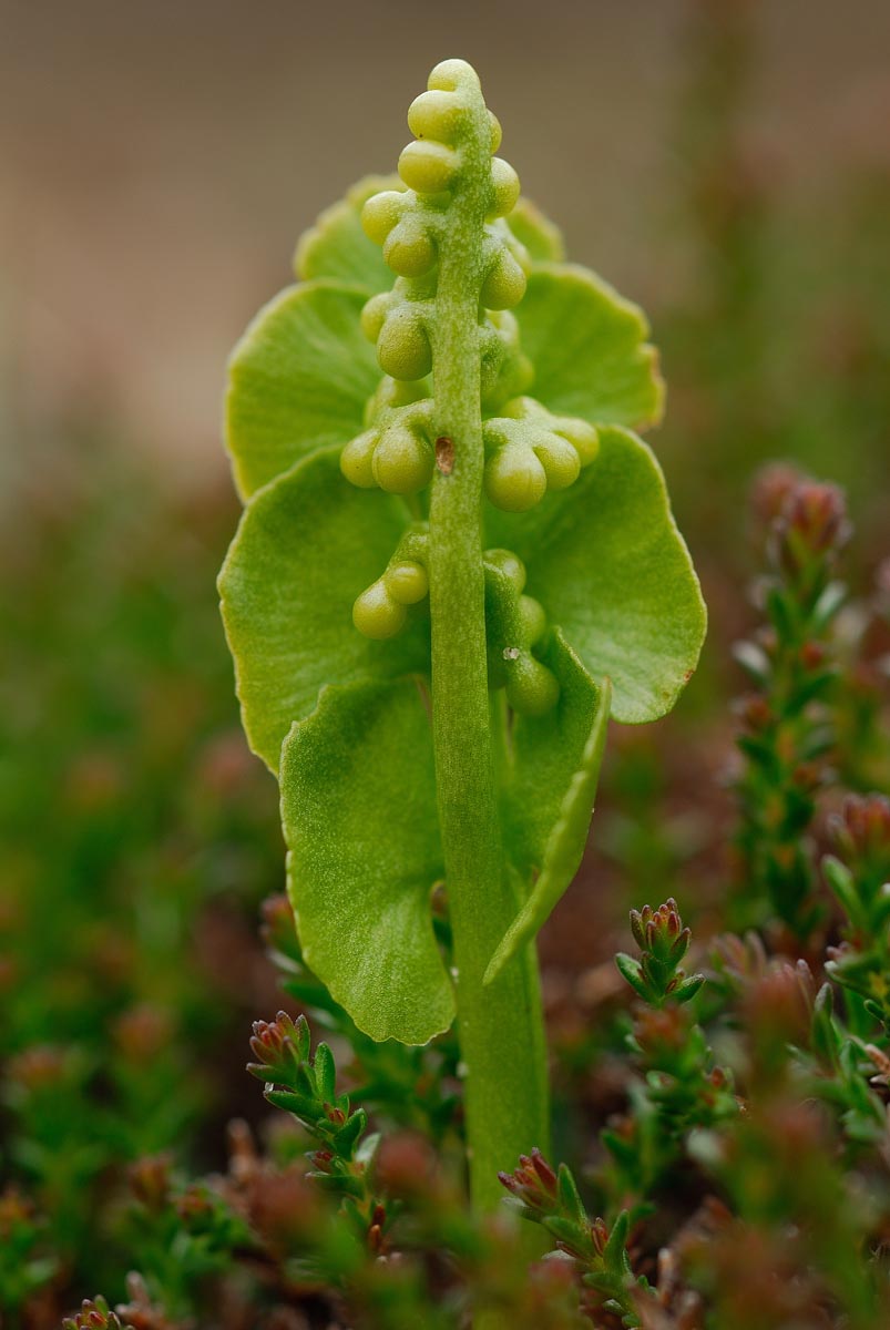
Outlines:
<svg viewBox="0 0 890 1330"><path fill-rule="evenodd" d="M307 966L372 1039L454 1019L430 894L442 876L432 737L416 685L326 688L282 749L287 890Z"/></svg>

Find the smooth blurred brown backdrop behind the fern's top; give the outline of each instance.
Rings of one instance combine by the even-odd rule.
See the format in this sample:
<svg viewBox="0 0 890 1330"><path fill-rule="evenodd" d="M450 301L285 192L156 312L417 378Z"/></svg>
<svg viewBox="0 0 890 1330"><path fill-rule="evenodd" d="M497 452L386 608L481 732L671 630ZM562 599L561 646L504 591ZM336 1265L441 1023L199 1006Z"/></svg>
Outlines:
<svg viewBox="0 0 890 1330"><path fill-rule="evenodd" d="M657 315L685 279L668 223L692 8L0 0L7 463L88 411L184 477L218 471L229 347L287 281L299 230L392 166L444 56L478 66L506 156L573 255ZM756 25L750 133L818 225L839 161L890 154L890 4L774 0Z"/></svg>

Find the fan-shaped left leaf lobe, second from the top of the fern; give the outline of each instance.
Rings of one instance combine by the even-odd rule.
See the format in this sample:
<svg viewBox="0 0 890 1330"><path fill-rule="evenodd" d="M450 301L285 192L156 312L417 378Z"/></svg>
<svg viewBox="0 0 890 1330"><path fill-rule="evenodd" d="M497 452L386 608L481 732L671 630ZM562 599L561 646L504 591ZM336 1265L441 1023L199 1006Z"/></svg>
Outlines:
<svg viewBox="0 0 890 1330"><path fill-rule="evenodd" d="M291 286L266 305L231 352L226 447L242 499L301 458L365 428L380 382L359 327L366 293L333 282Z"/></svg>

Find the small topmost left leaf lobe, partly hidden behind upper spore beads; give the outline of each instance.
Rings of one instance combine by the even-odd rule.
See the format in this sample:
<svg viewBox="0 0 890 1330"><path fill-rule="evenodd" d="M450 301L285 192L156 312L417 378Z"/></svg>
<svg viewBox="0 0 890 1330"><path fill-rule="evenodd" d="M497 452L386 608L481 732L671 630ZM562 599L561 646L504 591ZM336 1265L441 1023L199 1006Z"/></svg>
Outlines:
<svg viewBox="0 0 890 1330"><path fill-rule="evenodd" d="M395 274L383 262L380 246L362 230L362 207L383 189L403 190L404 184L398 176L366 176L301 235L294 254L294 271L301 281L330 278L361 286L369 295L391 289Z"/></svg>

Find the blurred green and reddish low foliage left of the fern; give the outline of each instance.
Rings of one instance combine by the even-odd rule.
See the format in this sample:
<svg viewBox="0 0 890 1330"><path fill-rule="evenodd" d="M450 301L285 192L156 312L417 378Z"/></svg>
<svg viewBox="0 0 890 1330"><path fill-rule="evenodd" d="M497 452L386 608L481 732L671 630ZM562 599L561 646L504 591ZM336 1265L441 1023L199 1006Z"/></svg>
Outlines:
<svg viewBox="0 0 890 1330"><path fill-rule="evenodd" d="M222 1153L281 864L231 714L220 505L172 511L110 450L67 448L0 564L0 1168L65 1275L117 1290L126 1165Z"/></svg>

